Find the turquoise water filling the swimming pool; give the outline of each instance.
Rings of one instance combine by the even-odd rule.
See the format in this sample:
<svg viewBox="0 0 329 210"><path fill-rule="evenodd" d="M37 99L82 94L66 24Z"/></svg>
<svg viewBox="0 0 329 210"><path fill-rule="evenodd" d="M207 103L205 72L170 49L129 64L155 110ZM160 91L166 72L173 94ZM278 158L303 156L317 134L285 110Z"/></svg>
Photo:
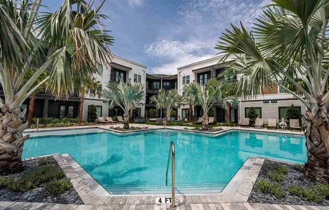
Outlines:
<svg viewBox="0 0 329 210"><path fill-rule="evenodd" d="M69 153L109 193L164 193L170 191L165 186L170 141L175 143L176 186L182 193L221 192L250 156L306 161L301 136L232 131L213 137L164 130L31 137L23 158Z"/></svg>

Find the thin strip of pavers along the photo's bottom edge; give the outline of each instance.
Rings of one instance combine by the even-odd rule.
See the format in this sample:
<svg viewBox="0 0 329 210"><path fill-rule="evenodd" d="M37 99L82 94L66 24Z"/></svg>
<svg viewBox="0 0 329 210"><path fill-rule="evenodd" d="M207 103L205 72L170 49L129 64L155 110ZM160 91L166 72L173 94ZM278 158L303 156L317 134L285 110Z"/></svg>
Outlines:
<svg viewBox="0 0 329 210"><path fill-rule="evenodd" d="M6 210L167 210L169 204L74 205L30 202L0 202ZM329 210L328 206L281 205L266 203L182 203L179 210Z"/></svg>

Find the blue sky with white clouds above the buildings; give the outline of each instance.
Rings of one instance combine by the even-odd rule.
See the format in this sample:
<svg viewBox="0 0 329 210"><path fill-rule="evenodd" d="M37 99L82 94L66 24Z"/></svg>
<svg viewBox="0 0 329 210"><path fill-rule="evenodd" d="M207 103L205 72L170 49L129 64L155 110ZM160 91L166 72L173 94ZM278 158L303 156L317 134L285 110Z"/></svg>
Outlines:
<svg viewBox="0 0 329 210"><path fill-rule="evenodd" d="M95 0L96 4L99 0ZM214 57L230 23L250 27L269 0L106 0L105 28L113 53L147 66L148 73L176 74L177 67ZM53 11L62 0L43 0Z"/></svg>

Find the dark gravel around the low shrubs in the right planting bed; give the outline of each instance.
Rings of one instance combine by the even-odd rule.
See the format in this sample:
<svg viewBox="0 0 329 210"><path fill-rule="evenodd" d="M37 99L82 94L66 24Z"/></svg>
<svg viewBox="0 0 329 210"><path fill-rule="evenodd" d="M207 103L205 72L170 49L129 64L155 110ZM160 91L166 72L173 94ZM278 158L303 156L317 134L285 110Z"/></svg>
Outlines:
<svg viewBox="0 0 329 210"><path fill-rule="evenodd" d="M329 205L329 200L322 199L319 202L305 201L303 197L291 194L287 187L291 185L303 186L303 187L312 187L317 183L313 180L306 179L303 176L303 173L297 171L293 165L285 164L276 161L265 160L264 164L260 170L257 180L259 179L268 179L267 173L272 171L276 166L286 166L289 168L289 172L285 175L284 182L280 183L283 189L286 191L286 197L277 198L275 195L269 193L263 193L260 191L255 191L252 189L249 196L248 202L253 203L271 203L271 204L294 204L294 205Z"/></svg>

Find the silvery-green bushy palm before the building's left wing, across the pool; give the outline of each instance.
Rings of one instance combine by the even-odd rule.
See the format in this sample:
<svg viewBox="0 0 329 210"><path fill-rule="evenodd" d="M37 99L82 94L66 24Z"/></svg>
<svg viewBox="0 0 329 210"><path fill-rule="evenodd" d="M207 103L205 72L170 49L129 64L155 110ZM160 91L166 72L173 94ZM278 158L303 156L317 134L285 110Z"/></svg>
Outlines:
<svg viewBox="0 0 329 210"><path fill-rule="evenodd" d="M135 109L144 100L144 85L111 82L102 91L102 96L108 100L109 109L119 106L124 111L124 129L129 129L130 110Z"/></svg>

